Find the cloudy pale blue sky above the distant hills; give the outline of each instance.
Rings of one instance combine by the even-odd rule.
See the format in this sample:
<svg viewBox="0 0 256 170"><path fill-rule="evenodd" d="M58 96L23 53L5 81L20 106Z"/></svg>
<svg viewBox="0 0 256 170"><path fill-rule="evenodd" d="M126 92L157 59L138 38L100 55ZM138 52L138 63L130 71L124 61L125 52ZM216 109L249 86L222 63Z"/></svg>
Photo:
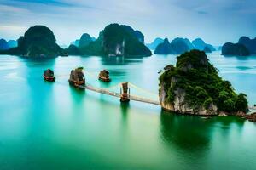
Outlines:
<svg viewBox="0 0 256 170"><path fill-rule="evenodd" d="M68 45L83 33L98 37L110 23L155 37L201 37L222 45L256 37L255 0L0 0L0 37L18 39L30 27L48 26Z"/></svg>

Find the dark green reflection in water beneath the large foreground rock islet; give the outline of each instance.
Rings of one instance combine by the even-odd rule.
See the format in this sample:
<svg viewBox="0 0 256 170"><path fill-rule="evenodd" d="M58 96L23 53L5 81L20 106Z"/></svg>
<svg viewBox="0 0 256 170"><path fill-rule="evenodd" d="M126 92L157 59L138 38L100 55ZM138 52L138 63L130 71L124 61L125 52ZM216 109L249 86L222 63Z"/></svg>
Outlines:
<svg viewBox="0 0 256 170"><path fill-rule="evenodd" d="M210 148L213 133L221 133L224 138L232 135L232 126L236 126L239 135L242 135L244 120L235 116L202 116L177 115L161 111L160 135L163 141L170 146L188 152L203 152Z"/></svg>

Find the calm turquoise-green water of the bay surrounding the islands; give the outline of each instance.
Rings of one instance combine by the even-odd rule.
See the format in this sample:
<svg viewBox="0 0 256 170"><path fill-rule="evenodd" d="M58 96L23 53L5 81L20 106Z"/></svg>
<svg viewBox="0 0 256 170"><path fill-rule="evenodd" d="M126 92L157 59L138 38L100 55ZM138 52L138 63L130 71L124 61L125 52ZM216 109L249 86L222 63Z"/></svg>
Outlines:
<svg viewBox="0 0 256 170"><path fill-rule="evenodd" d="M209 55L220 75L256 103L256 56ZM131 94L156 98L158 71L174 55L116 59L0 56L0 169L255 169L256 124L239 118L178 116L157 105L68 86L71 69L84 66L86 81L111 88L132 82ZM56 82L44 82L44 69ZM108 69L112 82L99 82ZM119 91L119 87L113 87ZM146 93L147 92L147 93Z"/></svg>

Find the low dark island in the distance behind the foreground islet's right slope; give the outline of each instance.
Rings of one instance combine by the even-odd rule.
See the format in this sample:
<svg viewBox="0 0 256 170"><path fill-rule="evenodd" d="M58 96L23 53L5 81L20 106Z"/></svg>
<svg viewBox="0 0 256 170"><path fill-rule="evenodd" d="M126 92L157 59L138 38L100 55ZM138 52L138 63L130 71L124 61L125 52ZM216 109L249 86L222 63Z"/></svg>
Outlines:
<svg viewBox="0 0 256 170"><path fill-rule="evenodd" d="M250 51L243 44L227 42L222 47L223 55L247 56Z"/></svg>

